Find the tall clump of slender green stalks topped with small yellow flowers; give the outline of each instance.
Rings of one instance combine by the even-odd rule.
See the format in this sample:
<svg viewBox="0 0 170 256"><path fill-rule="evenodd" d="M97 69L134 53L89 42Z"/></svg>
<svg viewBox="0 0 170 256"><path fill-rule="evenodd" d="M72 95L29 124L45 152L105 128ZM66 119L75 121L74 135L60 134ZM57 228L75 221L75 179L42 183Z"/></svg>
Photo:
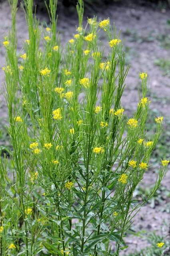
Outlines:
<svg viewBox="0 0 170 256"><path fill-rule="evenodd" d="M128 118L121 97L129 67L109 19L89 18L84 28L79 0L79 24L63 48L56 34L57 1L50 0L50 25L40 29L33 1L24 0L29 38L17 56L17 2L11 4L4 72L12 149L0 161L0 253L118 256L131 220L168 170L169 160L162 159L153 191L134 202L163 124L163 117L155 118L148 140L147 73L140 73L142 92ZM105 61L100 29L110 46Z"/></svg>

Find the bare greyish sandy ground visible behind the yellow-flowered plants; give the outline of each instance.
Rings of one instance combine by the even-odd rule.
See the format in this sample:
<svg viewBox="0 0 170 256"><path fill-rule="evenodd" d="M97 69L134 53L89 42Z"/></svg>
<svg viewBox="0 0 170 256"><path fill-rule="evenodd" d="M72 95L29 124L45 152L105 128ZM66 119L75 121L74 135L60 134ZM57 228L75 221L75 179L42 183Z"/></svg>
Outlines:
<svg viewBox="0 0 170 256"><path fill-rule="evenodd" d="M167 36L170 33L170 25L167 20L170 18L170 10L152 10L145 7L115 7L110 6L102 11L96 13L98 19L110 17L111 22L115 22L118 30L122 30L121 39L127 51L127 59L130 64L130 71L126 78L126 89L122 97L122 105L128 111L133 112L136 109L138 102L138 88L140 88L140 80L138 74L140 71L147 71L149 75L149 93L152 101L152 110L156 109L162 113L166 118L169 117L170 112L170 79L168 76L163 76L163 72L155 65L158 58L168 58L170 55L170 48L163 48L162 42L158 40L161 36ZM0 42L8 33L10 26L10 8L8 1L0 4ZM46 17L38 16L41 21L47 21ZM76 18L70 18L66 15L58 17L58 30L62 42L66 42L72 38L75 33L75 25L77 25ZM69 29L68 29L69 28ZM21 9L17 14L17 31L18 31L18 50L22 47L22 41L28 38L26 22L24 13ZM107 42L104 34L101 35L102 44L105 46L107 53ZM0 67L5 64L5 53L2 43L0 43ZM4 74L0 69L0 85L1 88L4 82ZM7 120L6 102L3 96L0 95L0 122L2 124ZM154 117L153 117L154 118ZM169 128L168 128L169 129ZM167 156L169 157L169 156ZM153 178L154 177L154 178ZM154 170L146 173L144 183L147 186L154 184L156 174ZM166 188L170 184L170 172L162 182ZM165 198L162 203L151 208L147 204L140 213L135 217L132 228L136 231L156 231L157 234L168 234L170 226L170 214L163 208L166 208L166 203L170 200ZM163 227L163 228L162 228ZM134 252L144 248L148 243L143 238L128 235L125 240L129 246L128 251L122 252L122 255L128 252Z"/></svg>

